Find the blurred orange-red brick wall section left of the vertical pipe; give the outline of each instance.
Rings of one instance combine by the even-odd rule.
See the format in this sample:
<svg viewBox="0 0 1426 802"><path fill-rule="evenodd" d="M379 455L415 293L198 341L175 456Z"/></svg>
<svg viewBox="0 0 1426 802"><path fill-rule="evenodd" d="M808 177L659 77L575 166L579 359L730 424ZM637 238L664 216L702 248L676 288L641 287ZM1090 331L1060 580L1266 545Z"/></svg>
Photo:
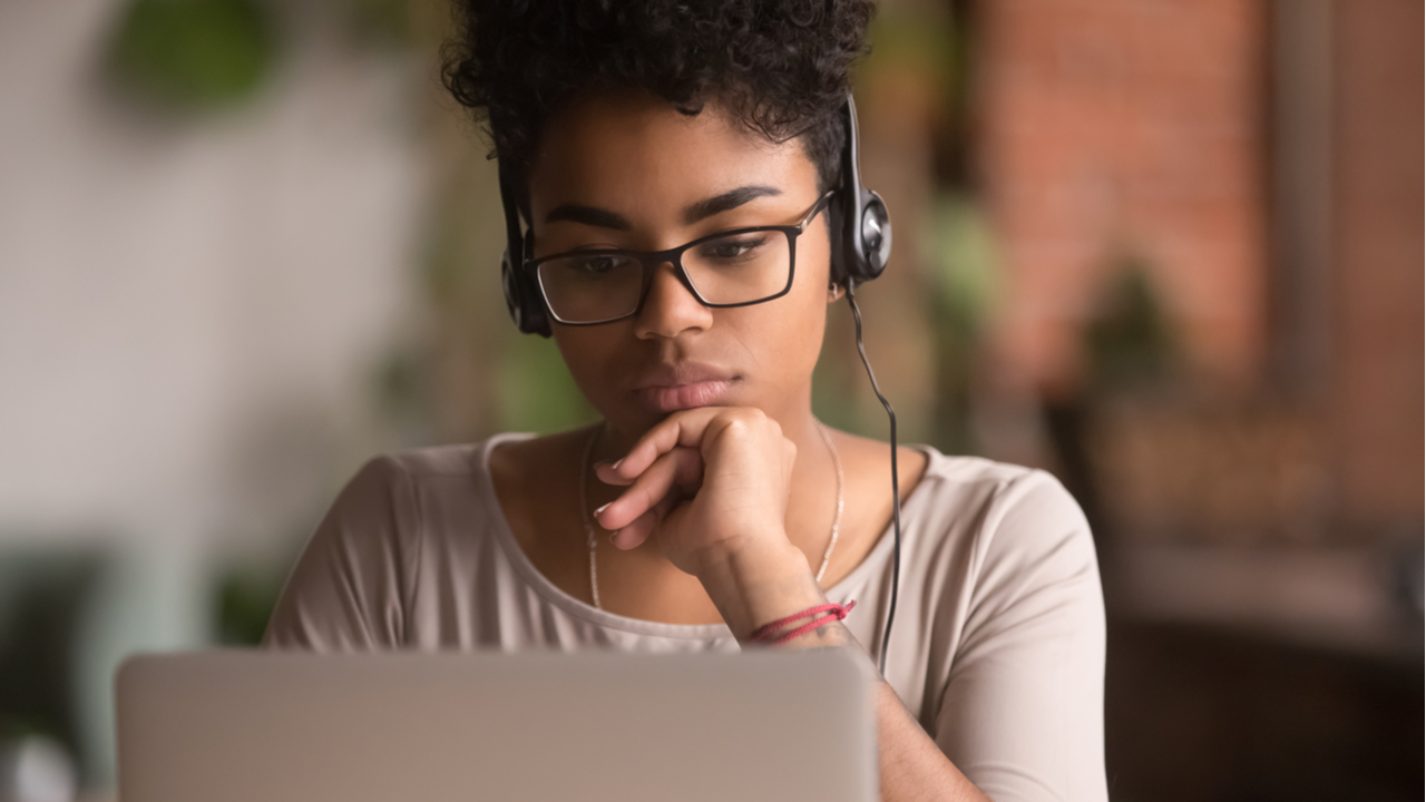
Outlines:
<svg viewBox="0 0 1426 802"><path fill-rule="evenodd" d="M980 173L1004 248L998 368L1079 375L1101 277L1148 265L1192 364L1229 381L1265 337L1265 7L980 3Z"/></svg>

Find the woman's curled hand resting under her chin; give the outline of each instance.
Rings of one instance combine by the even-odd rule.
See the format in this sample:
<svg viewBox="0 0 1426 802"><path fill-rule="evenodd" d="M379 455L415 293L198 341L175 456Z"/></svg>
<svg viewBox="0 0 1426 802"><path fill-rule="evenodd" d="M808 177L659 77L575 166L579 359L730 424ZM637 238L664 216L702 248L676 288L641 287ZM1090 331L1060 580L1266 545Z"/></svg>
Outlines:
<svg viewBox="0 0 1426 802"><path fill-rule="evenodd" d="M656 537L674 567L699 578L742 552L790 554L784 517L796 461L797 447L761 410L674 412L623 460L596 467L600 481L627 487L596 519L615 529L619 548Z"/></svg>

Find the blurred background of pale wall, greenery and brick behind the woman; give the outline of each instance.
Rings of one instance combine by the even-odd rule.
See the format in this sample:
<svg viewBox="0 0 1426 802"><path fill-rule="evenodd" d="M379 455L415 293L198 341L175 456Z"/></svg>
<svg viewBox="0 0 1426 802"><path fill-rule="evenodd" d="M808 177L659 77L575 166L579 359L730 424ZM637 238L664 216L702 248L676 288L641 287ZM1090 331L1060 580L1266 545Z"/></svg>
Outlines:
<svg viewBox="0 0 1426 802"><path fill-rule="evenodd" d="M0 799L251 644L378 451L592 420L498 284L436 0L0 3ZM886 0L906 440L1054 471L1118 801L1423 798L1423 6ZM837 307L817 411L883 437ZM1419 417L1423 415L1423 417Z"/></svg>

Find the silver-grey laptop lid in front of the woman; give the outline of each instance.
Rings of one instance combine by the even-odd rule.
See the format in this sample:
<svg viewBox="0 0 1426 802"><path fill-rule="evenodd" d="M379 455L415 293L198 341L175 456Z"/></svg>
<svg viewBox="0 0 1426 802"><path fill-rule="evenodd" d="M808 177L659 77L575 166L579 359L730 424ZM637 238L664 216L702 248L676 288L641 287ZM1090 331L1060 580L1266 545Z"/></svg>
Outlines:
<svg viewBox="0 0 1426 802"><path fill-rule="evenodd" d="M877 799L870 666L212 651L117 675L123 802Z"/></svg>

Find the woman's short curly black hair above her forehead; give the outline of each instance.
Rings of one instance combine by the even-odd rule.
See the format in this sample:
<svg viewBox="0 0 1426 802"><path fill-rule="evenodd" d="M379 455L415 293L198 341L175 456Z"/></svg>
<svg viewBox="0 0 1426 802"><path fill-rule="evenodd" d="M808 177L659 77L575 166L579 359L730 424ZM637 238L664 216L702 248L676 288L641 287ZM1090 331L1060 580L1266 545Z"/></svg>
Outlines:
<svg viewBox="0 0 1426 802"><path fill-rule="evenodd" d="M455 11L445 86L520 174L562 103L639 88L686 114L716 101L771 141L801 137L821 190L840 180L838 110L867 51L870 0L455 0Z"/></svg>

